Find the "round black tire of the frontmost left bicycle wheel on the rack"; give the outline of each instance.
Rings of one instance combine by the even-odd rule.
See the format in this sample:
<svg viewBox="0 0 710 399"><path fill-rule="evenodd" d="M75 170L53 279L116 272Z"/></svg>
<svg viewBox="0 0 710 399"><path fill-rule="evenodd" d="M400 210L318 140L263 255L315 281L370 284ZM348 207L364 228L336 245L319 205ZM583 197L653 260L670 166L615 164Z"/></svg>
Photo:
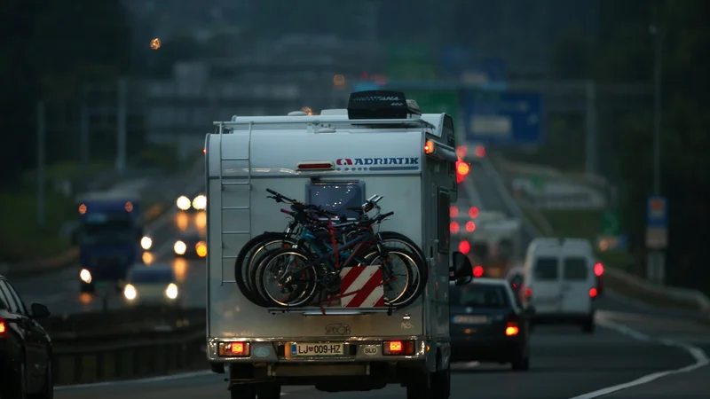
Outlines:
<svg viewBox="0 0 710 399"><path fill-rule="evenodd" d="M300 286L296 289L299 294L294 299L285 300L283 298L277 297L274 293L270 293L266 289L265 283L269 279L267 272L270 266L274 265L274 262L283 256L296 256L300 257L306 263L310 263L308 255L304 254L303 251L296 248L278 248L269 251L269 254L260 259L258 265L256 265L256 287L259 294L264 298L264 301L268 302L268 306L286 308L286 307L301 307L306 306L318 296L319 285L318 285L318 272L315 267L311 266L304 270L306 276Z"/></svg>

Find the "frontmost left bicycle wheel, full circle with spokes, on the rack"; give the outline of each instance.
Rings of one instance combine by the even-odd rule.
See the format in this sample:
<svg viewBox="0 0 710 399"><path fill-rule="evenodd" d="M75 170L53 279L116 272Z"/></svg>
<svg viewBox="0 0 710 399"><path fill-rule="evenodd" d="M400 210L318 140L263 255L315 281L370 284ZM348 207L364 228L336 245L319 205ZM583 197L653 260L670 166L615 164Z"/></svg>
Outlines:
<svg viewBox="0 0 710 399"><path fill-rule="evenodd" d="M256 265L256 291L269 306L286 308L310 304L319 294L318 272L311 261L297 248L269 251ZM285 283L280 278L293 272Z"/></svg>

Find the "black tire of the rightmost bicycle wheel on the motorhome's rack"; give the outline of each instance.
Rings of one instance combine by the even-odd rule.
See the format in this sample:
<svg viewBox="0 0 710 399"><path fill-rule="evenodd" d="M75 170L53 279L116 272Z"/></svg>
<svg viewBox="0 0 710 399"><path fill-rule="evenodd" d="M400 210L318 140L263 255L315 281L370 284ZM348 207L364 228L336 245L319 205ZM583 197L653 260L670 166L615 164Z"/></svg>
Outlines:
<svg viewBox="0 0 710 399"><path fill-rule="evenodd" d="M384 246L383 252L385 254L397 256L404 262L406 268L406 286L400 293L396 294L388 295L385 291L386 296L384 301L387 305L393 306L397 309L406 308L412 304L412 302L416 301L416 299L419 298L419 296L424 292L426 283L422 276L427 274L426 265L422 265L422 262L417 262L418 256L407 251L406 249ZM364 259L370 264L377 262L377 259L379 258L380 254L376 249L364 257Z"/></svg>

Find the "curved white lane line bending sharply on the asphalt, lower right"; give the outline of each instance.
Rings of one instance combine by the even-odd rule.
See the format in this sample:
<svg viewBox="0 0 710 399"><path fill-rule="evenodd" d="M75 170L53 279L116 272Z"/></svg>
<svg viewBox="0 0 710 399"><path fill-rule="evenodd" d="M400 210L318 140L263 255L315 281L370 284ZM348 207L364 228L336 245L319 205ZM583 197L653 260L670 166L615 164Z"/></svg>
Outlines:
<svg viewBox="0 0 710 399"><path fill-rule="evenodd" d="M596 398L599 396L604 396L604 395L609 395L613 392L620 391L622 389L627 389L628 387L636 387L639 385L647 384L655 379L660 379L663 377L666 377L668 375L673 375L673 374L680 374L682 372L692 372L693 370L699 369L700 367L705 367L707 364L710 364L710 358L707 357L706 353L703 351L703 349L684 344L682 342L676 341L676 340L668 340L668 339L654 339L649 335L644 334L643 332L638 332L635 330L632 330L628 328L627 326L624 325L617 325L615 323L611 323L610 321L606 320L600 320L600 325L604 325L605 327L611 328L612 330L615 330L617 332L620 332L622 334L626 334L631 338L634 338L635 340L644 340L644 341L651 341L651 342L658 342L661 345L665 345L667 347L674 347L674 348L681 348L682 350L685 350L690 354L690 356L695 359L695 363L689 364L685 367L682 367L680 369L675 369L675 370L667 370L665 372L654 372L652 374L644 375L643 377L639 379L635 379L633 381L625 382L623 384L615 385L613 387L605 387L602 389L598 389L594 392L589 392L588 394L583 394L583 395L578 395L574 396L571 399L592 399Z"/></svg>

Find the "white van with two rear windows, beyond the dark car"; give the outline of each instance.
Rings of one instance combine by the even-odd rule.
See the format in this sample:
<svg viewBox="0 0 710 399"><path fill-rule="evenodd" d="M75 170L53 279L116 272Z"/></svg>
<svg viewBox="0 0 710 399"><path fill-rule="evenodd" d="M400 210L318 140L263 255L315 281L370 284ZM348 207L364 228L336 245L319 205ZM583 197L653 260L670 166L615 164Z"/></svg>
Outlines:
<svg viewBox="0 0 710 399"><path fill-rule="evenodd" d="M587 239L533 239L525 254L525 301L534 324L579 324L594 332L595 257Z"/></svg>

